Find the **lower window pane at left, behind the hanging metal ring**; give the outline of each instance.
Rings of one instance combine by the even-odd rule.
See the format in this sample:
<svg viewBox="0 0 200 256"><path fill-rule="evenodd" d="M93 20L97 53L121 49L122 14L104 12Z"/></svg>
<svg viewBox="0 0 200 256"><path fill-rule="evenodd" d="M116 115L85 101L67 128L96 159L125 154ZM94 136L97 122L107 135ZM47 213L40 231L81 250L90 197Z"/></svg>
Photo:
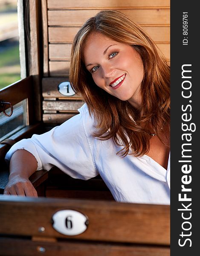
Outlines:
<svg viewBox="0 0 200 256"><path fill-rule="evenodd" d="M13 106L12 116L5 116L3 112L0 113L0 141L5 140L27 125L26 106L27 100L24 99ZM10 113L10 108L6 110L6 113Z"/></svg>

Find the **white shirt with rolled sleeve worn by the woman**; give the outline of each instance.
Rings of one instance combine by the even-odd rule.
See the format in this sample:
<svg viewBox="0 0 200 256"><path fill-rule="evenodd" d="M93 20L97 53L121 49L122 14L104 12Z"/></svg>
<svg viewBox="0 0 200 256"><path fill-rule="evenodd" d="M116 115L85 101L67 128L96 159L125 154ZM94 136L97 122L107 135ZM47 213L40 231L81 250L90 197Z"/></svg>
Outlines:
<svg viewBox="0 0 200 256"><path fill-rule="evenodd" d="M90 179L101 175L113 197L119 202L170 204L170 155L167 170L144 155L120 157L122 149L113 140L93 137L93 117L84 104L78 115L45 134L34 134L14 144L6 154L9 161L14 151L32 153L38 170L57 166L73 178Z"/></svg>

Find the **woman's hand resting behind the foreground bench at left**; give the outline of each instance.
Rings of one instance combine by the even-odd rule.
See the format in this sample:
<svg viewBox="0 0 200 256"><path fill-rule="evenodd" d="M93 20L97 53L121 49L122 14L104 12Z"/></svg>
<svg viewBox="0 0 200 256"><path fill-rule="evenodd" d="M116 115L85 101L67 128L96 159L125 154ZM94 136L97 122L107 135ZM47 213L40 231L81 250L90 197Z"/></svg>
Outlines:
<svg viewBox="0 0 200 256"><path fill-rule="evenodd" d="M20 177L19 175L9 177L9 182L6 185L3 194L38 197L37 191L30 180Z"/></svg>

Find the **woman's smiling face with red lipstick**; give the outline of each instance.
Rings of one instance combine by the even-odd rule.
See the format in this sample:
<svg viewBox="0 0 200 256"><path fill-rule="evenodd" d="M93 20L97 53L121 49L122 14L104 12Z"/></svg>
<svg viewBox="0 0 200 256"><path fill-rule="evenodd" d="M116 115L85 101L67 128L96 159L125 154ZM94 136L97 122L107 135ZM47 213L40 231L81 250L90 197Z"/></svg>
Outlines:
<svg viewBox="0 0 200 256"><path fill-rule="evenodd" d="M133 47L93 32L85 43L83 54L85 66L97 86L139 108L144 68Z"/></svg>

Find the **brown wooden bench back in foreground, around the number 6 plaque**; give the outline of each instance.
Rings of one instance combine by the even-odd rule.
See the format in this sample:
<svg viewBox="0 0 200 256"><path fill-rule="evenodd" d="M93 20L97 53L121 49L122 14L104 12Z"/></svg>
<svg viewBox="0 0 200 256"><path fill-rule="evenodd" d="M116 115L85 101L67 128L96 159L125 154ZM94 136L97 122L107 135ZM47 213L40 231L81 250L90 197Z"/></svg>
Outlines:
<svg viewBox="0 0 200 256"><path fill-rule="evenodd" d="M1 256L169 256L170 207L115 201L26 198L0 195ZM60 210L87 216L76 236L59 233Z"/></svg>

